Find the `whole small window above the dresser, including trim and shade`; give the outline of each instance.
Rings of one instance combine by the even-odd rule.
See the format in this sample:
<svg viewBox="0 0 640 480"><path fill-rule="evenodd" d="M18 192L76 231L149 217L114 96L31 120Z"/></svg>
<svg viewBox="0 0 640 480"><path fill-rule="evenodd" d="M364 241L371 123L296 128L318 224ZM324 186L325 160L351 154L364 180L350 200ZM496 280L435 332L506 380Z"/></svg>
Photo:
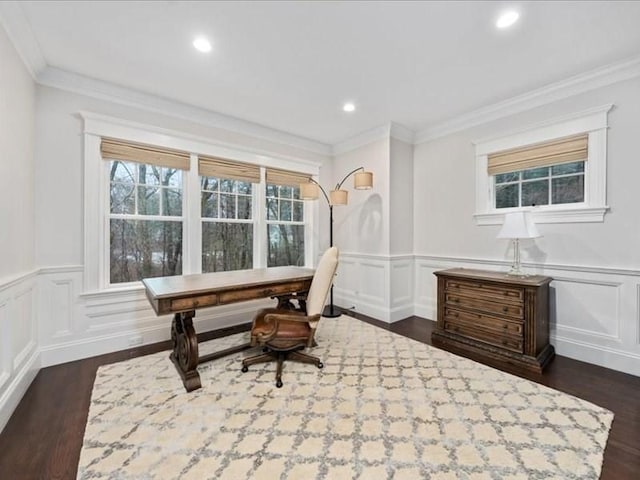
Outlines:
<svg viewBox="0 0 640 480"><path fill-rule="evenodd" d="M504 212L520 208L537 223L603 221L611 107L475 142L476 222L501 224Z"/></svg>

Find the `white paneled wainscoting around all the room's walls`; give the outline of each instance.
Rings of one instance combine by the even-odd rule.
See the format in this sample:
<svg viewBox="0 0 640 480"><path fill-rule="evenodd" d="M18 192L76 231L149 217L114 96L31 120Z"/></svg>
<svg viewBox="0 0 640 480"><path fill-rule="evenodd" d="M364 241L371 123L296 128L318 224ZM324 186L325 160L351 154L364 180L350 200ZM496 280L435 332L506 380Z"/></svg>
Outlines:
<svg viewBox="0 0 640 480"><path fill-rule="evenodd" d="M507 262L342 253L335 303L387 323L436 318L436 270ZM640 376L640 272L525 264L549 275L551 343L559 355ZM0 285L0 430L42 367L167 340L142 288L83 293L82 266L43 268ZM247 322L270 300L198 311L197 332Z"/></svg>

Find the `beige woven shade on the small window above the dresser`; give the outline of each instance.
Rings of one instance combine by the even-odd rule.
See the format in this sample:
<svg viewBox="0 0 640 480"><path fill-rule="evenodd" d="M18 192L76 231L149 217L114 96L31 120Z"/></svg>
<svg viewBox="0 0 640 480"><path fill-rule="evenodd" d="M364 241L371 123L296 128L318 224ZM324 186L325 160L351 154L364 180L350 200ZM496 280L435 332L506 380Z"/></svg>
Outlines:
<svg viewBox="0 0 640 480"><path fill-rule="evenodd" d="M548 167L587 159L588 135L504 150L489 155L489 175Z"/></svg>

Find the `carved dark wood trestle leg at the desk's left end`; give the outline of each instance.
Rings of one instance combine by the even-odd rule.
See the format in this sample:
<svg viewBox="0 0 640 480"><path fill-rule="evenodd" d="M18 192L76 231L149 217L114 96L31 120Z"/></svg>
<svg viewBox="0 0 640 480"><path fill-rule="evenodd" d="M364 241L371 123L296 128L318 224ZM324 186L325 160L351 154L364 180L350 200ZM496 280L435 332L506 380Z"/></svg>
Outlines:
<svg viewBox="0 0 640 480"><path fill-rule="evenodd" d="M202 386L198 374L198 338L193 328L195 311L176 313L171 323L173 351L169 358L176 366L187 392Z"/></svg>

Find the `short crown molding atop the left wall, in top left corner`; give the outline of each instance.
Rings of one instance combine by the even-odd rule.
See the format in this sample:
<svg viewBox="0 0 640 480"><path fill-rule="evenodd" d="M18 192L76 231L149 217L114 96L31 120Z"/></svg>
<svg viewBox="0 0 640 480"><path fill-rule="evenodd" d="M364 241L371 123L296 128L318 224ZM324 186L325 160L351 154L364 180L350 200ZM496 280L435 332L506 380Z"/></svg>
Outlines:
<svg viewBox="0 0 640 480"><path fill-rule="evenodd" d="M40 72L47 67L47 62L20 2L0 2L0 23L20 55L22 63L36 80Z"/></svg>

